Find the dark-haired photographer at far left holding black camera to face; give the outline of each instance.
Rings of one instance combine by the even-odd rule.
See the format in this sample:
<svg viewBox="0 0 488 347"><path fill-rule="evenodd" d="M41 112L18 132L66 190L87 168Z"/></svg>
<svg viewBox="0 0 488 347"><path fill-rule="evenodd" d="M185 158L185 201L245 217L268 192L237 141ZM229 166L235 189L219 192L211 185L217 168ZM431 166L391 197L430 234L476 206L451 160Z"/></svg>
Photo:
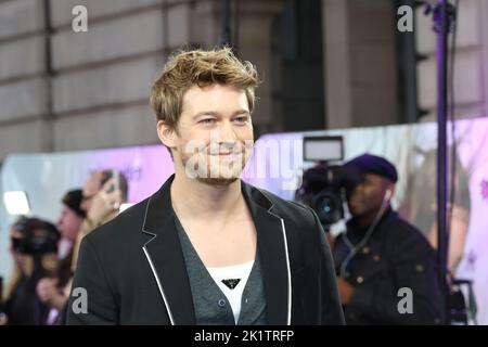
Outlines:
<svg viewBox="0 0 488 347"><path fill-rule="evenodd" d="M46 324L49 307L36 293L41 278L53 277L57 265L60 232L53 224L22 218L11 227L14 271L8 287L2 324Z"/></svg>

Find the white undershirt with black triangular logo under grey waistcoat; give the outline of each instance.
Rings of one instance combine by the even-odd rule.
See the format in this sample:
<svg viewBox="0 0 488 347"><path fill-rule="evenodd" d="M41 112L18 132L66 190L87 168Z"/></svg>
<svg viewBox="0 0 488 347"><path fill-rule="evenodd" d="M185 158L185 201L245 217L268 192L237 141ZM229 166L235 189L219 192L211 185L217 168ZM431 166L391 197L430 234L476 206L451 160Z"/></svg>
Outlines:
<svg viewBox="0 0 488 347"><path fill-rule="evenodd" d="M229 304L232 308L232 312L234 313L235 324L237 324L239 316L241 314L242 293L244 292L244 287L246 286L246 282L247 279L249 278L253 265L254 260L251 260L241 265L234 265L230 267L207 268L208 273L210 273L215 283L217 283L219 288L222 291L222 293L229 300ZM235 280L235 279L240 279L241 281L233 290L229 288L222 282L222 280Z"/></svg>

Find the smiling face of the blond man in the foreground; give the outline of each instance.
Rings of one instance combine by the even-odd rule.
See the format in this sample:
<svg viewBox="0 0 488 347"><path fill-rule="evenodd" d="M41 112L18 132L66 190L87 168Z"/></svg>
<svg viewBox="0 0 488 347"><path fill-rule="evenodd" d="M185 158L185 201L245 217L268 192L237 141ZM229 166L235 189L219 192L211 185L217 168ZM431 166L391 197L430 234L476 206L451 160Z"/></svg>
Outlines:
<svg viewBox="0 0 488 347"><path fill-rule="evenodd" d="M171 147L177 170L209 184L239 179L254 140L243 90L222 85L190 88L177 127Z"/></svg>

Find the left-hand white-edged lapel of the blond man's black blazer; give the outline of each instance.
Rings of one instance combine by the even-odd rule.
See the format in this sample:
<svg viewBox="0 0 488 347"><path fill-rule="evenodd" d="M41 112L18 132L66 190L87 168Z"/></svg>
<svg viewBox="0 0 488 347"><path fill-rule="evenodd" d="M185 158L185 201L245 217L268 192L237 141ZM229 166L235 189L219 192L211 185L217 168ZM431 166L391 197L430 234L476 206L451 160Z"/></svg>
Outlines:
<svg viewBox="0 0 488 347"><path fill-rule="evenodd" d="M165 303L170 323L196 323L183 253L175 227L169 188L174 177L147 202L142 232L153 237L143 250Z"/></svg>

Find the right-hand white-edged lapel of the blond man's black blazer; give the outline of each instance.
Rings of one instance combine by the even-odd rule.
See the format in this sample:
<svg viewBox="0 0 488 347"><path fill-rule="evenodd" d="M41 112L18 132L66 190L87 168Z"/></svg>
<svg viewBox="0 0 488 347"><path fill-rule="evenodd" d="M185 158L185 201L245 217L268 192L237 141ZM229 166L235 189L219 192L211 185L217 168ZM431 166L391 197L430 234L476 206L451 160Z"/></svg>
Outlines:
<svg viewBox="0 0 488 347"><path fill-rule="evenodd" d="M291 323L292 284L284 221L274 215L272 203L257 189L242 182L257 232L261 257L268 324Z"/></svg>

